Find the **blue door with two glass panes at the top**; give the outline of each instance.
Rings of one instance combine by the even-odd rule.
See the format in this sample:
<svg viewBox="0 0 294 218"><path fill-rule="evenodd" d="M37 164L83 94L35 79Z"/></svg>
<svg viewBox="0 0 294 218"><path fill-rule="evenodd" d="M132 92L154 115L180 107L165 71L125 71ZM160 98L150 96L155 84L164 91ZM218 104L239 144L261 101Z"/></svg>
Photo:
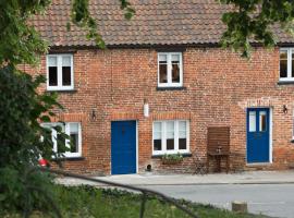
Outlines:
<svg viewBox="0 0 294 218"><path fill-rule="evenodd" d="M270 119L268 108L247 109L247 162L269 162Z"/></svg>

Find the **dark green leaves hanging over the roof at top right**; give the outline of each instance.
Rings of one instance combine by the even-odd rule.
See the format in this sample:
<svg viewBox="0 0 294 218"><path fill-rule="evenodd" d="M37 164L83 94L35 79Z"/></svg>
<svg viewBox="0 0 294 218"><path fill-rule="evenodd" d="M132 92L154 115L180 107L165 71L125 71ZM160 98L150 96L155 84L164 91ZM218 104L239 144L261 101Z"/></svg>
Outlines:
<svg viewBox="0 0 294 218"><path fill-rule="evenodd" d="M233 4L234 10L226 12L222 21L228 29L222 36L222 45L241 50L248 57L250 41L261 43L266 47L275 45L271 27L280 24L293 32L294 2L292 0L220 0Z"/></svg>

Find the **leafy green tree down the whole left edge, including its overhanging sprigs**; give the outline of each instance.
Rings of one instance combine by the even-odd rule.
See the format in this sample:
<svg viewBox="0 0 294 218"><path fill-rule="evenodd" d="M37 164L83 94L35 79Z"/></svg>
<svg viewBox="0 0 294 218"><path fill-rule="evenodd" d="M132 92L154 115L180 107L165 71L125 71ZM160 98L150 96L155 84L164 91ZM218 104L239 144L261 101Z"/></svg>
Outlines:
<svg viewBox="0 0 294 218"><path fill-rule="evenodd" d="M125 17L133 10L120 0ZM37 65L39 56L48 50L34 26L27 25L35 14L42 13L49 0L0 1L0 216L1 213L34 209L48 210L53 197L50 194L52 178L32 170L38 159L60 157L52 152L51 131L40 122L50 122L53 108L62 108L57 94L37 92L44 76L32 77L17 70L20 64ZM88 32L87 37L103 47L96 32L96 22L88 12L88 0L73 0L72 23ZM61 128L56 128L63 147L69 138ZM42 140L41 140L42 138Z"/></svg>

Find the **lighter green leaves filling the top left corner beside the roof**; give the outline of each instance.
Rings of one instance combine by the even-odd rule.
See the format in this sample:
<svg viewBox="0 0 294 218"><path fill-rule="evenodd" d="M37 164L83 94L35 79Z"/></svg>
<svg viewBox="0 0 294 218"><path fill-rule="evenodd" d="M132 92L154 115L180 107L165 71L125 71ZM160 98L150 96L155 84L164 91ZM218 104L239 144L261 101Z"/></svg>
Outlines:
<svg viewBox="0 0 294 218"><path fill-rule="evenodd" d="M27 20L40 13L49 0L0 1L0 64L37 63L47 45Z"/></svg>

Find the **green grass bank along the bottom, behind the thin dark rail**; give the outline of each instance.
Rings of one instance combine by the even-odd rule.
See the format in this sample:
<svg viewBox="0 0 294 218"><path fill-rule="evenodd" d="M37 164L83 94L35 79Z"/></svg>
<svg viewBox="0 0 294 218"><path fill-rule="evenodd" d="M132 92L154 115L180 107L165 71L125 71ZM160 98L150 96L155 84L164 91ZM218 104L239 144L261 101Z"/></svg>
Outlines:
<svg viewBox="0 0 294 218"><path fill-rule="evenodd" d="M103 190L93 186L62 186L56 185L54 194L64 218L138 218L140 209L140 195L119 190ZM219 209L210 205L194 204L179 201L200 218L261 218L260 215L240 215L229 210ZM189 217L175 206L155 197L148 197L145 207L145 218L182 218ZM4 216L7 218L21 216ZM54 217L53 211L47 214L34 213L32 218Z"/></svg>

